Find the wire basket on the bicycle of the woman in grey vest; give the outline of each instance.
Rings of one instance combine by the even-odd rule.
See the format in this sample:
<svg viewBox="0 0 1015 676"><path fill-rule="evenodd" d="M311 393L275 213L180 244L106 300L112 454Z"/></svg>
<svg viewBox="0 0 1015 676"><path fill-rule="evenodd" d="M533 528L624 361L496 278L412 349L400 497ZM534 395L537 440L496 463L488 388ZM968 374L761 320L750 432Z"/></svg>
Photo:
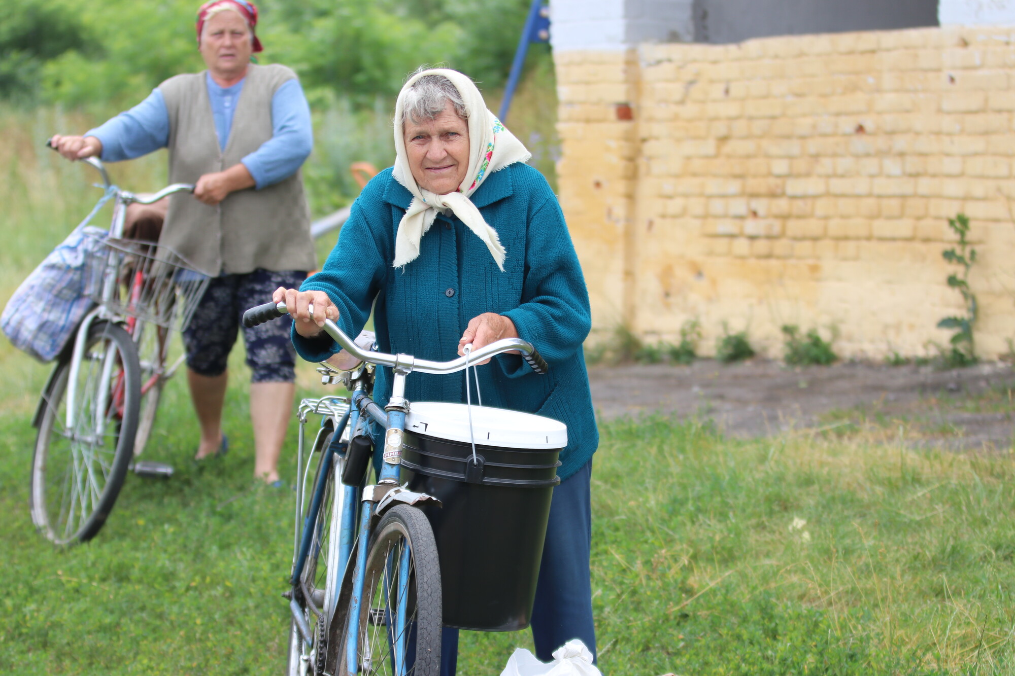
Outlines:
<svg viewBox="0 0 1015 676"><path fill-rule="evenodd" d="M112 312L170 330L187 328L210 277L168 247L107 238L92 251L85 294ZM112 292L107 292L112 284Z"/></svg>

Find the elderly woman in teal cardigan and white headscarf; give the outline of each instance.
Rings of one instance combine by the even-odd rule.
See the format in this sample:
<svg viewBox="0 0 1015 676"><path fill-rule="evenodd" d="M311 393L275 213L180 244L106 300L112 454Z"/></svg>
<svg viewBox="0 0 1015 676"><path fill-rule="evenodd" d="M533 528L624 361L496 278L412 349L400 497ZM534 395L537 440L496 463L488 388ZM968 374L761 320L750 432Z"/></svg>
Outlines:
<svg viewBox="0 0 1015 676"><path fill-rule="evenodd" d="M479 368L483 404L567 425L543 550L532 630L543 661L571 638L595 655L589 576L590 477L599 443L582 343L589 296L557 199L525 162L530 154L468 77L420 70L395 111L395 166L352 205L324 269L295 289L279 288L293 315L296 351L322 361L338 346L320 309L356 335L370 309L380 349L433 360L521 336L549 364L536 375L516 354ZM318 319L308 306L313 303ZM485 363L485 362L484 362ZM409 401L465 402L465 376L416 374ZM379 403L391 394L381 369ZM455 673L458 631L445 629L442 674Z"/></svg>

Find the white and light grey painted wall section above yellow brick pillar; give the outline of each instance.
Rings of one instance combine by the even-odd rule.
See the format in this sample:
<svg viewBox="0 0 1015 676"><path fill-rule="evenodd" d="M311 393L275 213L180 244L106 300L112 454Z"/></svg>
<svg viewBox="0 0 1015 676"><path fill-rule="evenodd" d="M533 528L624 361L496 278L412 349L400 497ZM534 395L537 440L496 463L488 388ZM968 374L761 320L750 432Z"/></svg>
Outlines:
<svg viewBox="0 0 1015 676"><path fill-rule="evenodd" d="M550 45L615 51L639 43L693 42L693 0L550 0Z"/></svg>

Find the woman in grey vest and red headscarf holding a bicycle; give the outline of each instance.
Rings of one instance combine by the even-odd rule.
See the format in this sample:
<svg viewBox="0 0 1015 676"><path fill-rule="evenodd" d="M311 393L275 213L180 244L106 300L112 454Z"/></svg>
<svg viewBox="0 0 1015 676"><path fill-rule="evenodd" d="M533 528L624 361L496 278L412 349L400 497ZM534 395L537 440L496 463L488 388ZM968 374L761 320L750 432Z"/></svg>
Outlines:
<svg viewBox="0 0 1015 676"><path fill-rule="evenodd" d="M165 80L135 108L83 136L54 136L68 159L130 159L170 151L170 182L194 195L171 198L159 243L213 277L184 344L188 383L201 425L198 460L227 449L221 430L226 360L244 310L280 285L298 286L316 267L299 166L313 145L310 108L296 75L258 66L257 7L212 0L198 12L197 42L207 70ZM289 328L245 329L253 373L255 476L278 479L278 456L292 410L294 353Z"/></svg>

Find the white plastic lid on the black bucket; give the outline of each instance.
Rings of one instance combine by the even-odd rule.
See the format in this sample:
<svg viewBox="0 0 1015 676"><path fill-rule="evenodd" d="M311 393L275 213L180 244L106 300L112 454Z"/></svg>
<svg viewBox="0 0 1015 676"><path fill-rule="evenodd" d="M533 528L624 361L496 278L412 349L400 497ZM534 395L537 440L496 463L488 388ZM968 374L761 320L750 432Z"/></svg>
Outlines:
<svg viewBox="0 0 1015 676"><path fill-rule="evenodd" d="M414 401L409 405L405 430L426 436L469 444L466 404ZM562 449L567 446L567 425L541 415L492 406L472 407L472 429L477 446L503 449Z"/></svg>

